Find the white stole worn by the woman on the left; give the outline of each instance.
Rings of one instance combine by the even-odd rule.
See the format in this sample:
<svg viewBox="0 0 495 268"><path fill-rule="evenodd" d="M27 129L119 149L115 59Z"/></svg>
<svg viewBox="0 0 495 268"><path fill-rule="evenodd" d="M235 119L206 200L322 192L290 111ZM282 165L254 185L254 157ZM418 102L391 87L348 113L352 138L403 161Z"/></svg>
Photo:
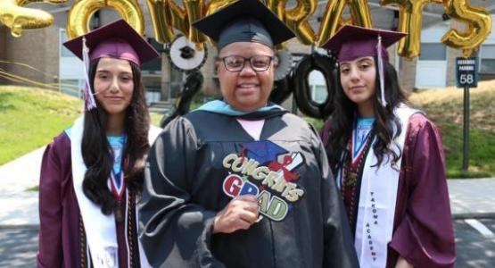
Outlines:
<svg viewBox="0 0 495 268"><path fill-rule="evenodd" d="M82 182L87 171L81 153L81 143L84 130L84 117L79 117L70 130L70 155L72 161L72 181L74 191L78 199L78 205L84 223L87 246L91 252L93 264L96 268L100 267L119 267L117 228L115 225L115 216L113 214L102 214L100 206L95 205L89 200L83 192ZM160 134L161 129L150 126L148 140L150 146L156 137ZM69 134L69 133L68 133ZM126 204L128 204L128 191L126 191ZM136 209L136 220L138 219ZM128 228L128 214L125 215L126 230ZM137 222L136 222L137 224ZM138 225L136 225L138 226ZM126 237L127 239L127 237ZM139 256L142 267L151 267L144 255L141 243L139 242ZM128 261L128 264L130 262Z"/></svg>

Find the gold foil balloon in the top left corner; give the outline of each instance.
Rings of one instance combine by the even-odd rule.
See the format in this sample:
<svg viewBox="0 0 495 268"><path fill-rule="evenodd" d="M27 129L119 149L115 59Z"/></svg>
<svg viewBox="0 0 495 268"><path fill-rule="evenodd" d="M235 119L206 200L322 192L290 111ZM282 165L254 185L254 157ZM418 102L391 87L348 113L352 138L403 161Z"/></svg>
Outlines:
<svg viewBox="0 0 495 268"><path fill-rule="evenodd" d="M54 16L42 10L22 7L24 4L45 2L61 4L67 0L2 0L0 22L11 29L12 36L20 37L24 29L41 29L54 23Z"/></svg>

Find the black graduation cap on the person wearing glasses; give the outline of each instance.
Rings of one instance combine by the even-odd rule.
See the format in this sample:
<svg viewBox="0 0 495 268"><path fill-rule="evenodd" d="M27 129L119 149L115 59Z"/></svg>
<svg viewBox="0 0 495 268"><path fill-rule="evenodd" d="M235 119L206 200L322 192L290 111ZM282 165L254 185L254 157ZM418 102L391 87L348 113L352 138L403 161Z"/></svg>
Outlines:
<svg viewBox="0 0 495 268"><path fill-rule="evenodd" d="M258 0L239 0L193 26L217 42L219 49L234 42L273 47L295 37L284 21Z"/></svg>

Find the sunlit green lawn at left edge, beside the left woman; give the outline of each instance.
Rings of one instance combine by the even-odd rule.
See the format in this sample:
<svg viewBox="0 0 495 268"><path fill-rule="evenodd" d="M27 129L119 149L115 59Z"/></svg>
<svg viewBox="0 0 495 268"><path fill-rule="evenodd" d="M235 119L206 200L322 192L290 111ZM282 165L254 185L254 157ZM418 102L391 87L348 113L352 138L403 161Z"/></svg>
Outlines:
<svg viewBox="0 0 495 268"><path fill-rule="evenodd" d="M43 147L78 116L77 98L44 89L0 87L0 164Z"/></svg>

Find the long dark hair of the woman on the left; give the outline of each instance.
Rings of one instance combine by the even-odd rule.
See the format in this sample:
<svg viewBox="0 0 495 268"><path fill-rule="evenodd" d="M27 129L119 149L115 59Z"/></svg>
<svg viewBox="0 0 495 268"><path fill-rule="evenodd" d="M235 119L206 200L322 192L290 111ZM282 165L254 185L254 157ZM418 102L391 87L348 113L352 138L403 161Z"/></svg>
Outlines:
<svg viewBox="0 0 495 268"><path fill-rule="evenodd" d="M98 62L96 60L89 67L91 88L94 88ZM143 187L144 157L150 147L148 143L150 116L146 109L141 71L135 63L130 65L134 91L124 121L127 142L122 153L122 159L125 159L122 171L125 174L128 190L140 193ZM103 214L111 214L116 200L107 186L107 180L110 177L114 158L105 132L107 114L97 100L96 105L96 109L86 111L84 116L81 152L87 172L83 180L83 191L87 198L102 207Z"/></svg>

